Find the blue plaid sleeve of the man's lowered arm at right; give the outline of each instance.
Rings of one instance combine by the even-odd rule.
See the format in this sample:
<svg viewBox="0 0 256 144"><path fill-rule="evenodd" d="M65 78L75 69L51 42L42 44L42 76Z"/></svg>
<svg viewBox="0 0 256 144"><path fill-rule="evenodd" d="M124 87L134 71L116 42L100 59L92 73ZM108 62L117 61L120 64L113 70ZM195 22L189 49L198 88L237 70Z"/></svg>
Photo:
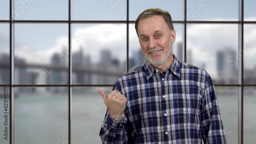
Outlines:
<svg viewBox="0 0 256 144"><path fill-rule="evenodd" d="M210 77L205 83L203 94L201 130L204 143L227 143L215 87Z"/></svg>

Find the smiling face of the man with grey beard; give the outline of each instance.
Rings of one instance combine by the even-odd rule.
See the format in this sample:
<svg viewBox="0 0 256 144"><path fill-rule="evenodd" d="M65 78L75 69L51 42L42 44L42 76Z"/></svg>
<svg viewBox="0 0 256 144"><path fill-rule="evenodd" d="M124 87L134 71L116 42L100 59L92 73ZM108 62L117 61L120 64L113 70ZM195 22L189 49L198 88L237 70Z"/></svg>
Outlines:
<svg viewBox="0 0 256 144"><path fill-rule="evenodd" d="M172 63L172 43L175 42L175 36L175 30L170 30L163 16L153 15L138 23L142 53L153 65Z"/></svg>

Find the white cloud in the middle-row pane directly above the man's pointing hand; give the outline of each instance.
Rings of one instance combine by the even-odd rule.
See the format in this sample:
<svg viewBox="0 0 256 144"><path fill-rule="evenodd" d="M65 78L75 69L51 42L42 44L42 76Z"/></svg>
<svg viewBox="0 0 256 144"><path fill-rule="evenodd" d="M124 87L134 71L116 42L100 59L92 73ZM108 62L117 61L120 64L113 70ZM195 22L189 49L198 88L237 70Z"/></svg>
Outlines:
<svg viewBox="0 0 256 144"><path fill-rule="evenodd" d="M85 54L90 54L94 62L99 61L100 51L108 49L113 58L126 59L126 25L125 24L96 24L74 29L72 51L83 47Z"/></svg>

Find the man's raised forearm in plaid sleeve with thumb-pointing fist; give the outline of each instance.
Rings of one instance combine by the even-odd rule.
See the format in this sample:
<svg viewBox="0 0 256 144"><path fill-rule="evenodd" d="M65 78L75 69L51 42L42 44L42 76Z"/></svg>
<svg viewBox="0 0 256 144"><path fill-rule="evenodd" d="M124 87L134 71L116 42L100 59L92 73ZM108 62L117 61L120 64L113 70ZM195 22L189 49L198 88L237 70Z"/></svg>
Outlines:
<svg viewBox="0 0 256 144"><path fill-rule="evenodd" d="M127 117L124 114L127 98L119 92L116 86L109 95L106 95L103 90L98 90L98 92L101 93L108 107L99 133L102 143L127 143L125 130Z"/></svg>

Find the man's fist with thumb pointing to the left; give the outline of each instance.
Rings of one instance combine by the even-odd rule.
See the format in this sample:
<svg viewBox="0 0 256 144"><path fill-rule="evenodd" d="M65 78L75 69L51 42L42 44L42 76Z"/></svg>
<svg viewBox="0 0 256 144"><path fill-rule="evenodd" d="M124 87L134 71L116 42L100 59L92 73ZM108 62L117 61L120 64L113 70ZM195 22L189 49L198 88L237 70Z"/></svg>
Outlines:
<svg viewBox="0 0 256 144"><path fill-rule="evenodd" d="M104 103L109 109L110 116L115 121L120 122L127 98L116 90L112 90L109 95L106 95L105 91L101 89L99 89L98 92L102 95Z"/></svg>

